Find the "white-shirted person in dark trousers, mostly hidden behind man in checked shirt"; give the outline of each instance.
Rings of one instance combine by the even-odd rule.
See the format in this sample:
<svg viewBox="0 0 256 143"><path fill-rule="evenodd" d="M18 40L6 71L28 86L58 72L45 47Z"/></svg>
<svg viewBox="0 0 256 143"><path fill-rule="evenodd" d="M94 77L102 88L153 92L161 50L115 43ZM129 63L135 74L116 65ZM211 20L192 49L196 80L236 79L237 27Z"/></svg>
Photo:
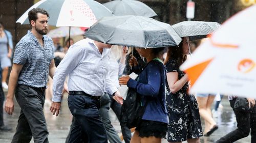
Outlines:
<svg viewBox="0 0 256 143"><path fill-rule="evenodd" d="M128 47L120 47L120 46L111 47L109 75L115 87L118 89L120 88L118 80L119 80L119 77L122 75L125 67L125 56L127 55L127 52L128 52ZM119 63L117 60L119 60ZM122 142L118 134L116 133L114 127L112 126L111 120L109 117L109 110L111 107L111 109L116 114L118 120L120 121L121 105L112 98L112 95L108 93L106 93L102 97L100 102L102 103L100 104L100 115L101 115L104 127L106 128L106 133L108 134L109 141L111 143ZM121 125L121 131L123 134L124 141L126 143L129 143L132 136L130 129L126 126Z"/></svg>

